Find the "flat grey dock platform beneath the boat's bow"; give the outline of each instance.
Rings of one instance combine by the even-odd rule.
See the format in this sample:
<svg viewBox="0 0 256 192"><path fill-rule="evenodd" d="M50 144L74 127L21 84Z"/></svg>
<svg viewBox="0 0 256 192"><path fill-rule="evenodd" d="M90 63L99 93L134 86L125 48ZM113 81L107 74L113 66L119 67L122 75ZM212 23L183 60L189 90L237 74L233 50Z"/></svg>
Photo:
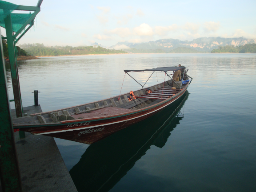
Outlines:
<svg viewBox="0 0 256 192"><path fill-rule="evenodd" d="M40 106L24 108L28 116L41 111ZM25 136L20 139L19 132L14 133L23 192L77 192L54 138L28 132Z"/></svg>

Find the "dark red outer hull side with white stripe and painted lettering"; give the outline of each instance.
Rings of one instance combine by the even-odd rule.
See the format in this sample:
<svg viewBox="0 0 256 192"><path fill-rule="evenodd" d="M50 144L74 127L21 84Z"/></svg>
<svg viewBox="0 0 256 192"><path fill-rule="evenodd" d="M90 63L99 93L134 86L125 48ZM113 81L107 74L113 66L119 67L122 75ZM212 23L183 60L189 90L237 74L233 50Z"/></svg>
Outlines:
<svg viewBox="0 0 256 192"><path fill-rule="evenodd" d="M19 125L21 131L34 135L46 135L80 143L92 144L98 140L148 118L175 102L186 92L188 84L174 97L162 100L152 106L115 116L61 121L61 124Z"/></svg>

